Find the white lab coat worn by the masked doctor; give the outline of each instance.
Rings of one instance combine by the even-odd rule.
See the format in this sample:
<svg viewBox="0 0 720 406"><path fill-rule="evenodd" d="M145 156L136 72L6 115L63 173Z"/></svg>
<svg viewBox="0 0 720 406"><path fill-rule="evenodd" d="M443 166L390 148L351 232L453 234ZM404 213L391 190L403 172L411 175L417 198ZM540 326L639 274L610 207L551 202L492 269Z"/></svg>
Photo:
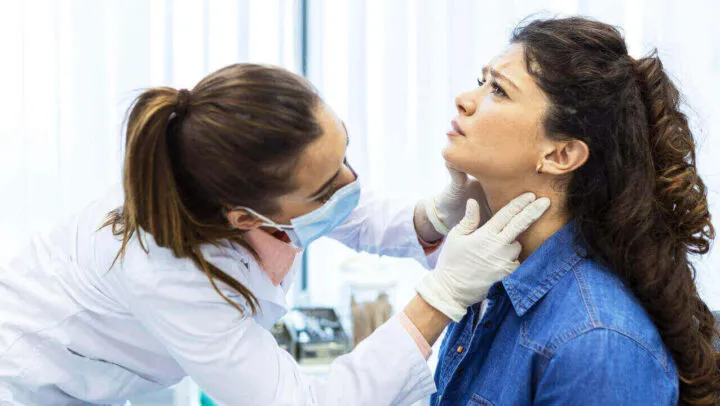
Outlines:
<svg viewBox="0 0 720 406"><path fill-rule="evenodd" d="M204 248L211 263L257 296L262 313L255 317L241 316L189 260L150 236L149 254L133 240L124 262L111 268L120 242L109 228L97 229L121 202L114 188L0 268L0 401L116 403L186 375L222 405L394 405L435 391L397 319L338 358L327 380L300 372L268 332L287 311L300 255L274 286L242 247ZM412 207L364 194L333 237L356 250L424 262L412 217Z"/></svg>

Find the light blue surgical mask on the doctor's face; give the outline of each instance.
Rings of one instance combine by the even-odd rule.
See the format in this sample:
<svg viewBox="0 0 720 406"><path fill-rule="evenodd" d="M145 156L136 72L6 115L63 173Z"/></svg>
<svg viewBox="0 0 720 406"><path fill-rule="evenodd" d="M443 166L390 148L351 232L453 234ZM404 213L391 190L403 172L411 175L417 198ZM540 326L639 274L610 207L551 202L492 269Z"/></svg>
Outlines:
<svg viewBox="0 0 720 406"><path fill-rule="evenodd" d="M290 220L290 224L278 224L249 207L238 206L263 220L265 227L286 231L293 243L305 249L320 237L328 235L343 223L360 202L360 183L355 180L335 192L321 207Z"/></svg>

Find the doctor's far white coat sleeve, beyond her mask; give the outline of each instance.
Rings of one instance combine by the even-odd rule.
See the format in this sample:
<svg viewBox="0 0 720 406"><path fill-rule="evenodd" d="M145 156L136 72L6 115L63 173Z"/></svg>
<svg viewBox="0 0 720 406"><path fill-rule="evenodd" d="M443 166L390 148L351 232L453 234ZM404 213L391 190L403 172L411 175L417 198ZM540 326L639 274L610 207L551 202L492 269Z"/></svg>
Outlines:
<svg viewBox="0 0 720 406"><path fill-rule="evenodd" d="M414 258L431 269L440 250L426 253L420 244L413 220L414 210L411 203L363 190L358 207L328 237L355 251Z"/></svg>

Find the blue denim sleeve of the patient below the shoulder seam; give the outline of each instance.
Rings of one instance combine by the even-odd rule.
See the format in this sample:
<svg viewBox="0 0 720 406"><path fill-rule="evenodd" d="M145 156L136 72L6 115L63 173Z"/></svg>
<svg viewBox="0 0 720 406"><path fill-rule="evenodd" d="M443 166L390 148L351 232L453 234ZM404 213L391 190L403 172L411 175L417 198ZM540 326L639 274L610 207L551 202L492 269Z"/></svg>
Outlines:
<svg viewBox="0 0 720 406"><path fill-rule="evenodd" d="M563 344L540 378L535 405L677 405L669 360L616 331L596 329Z"/></svg>

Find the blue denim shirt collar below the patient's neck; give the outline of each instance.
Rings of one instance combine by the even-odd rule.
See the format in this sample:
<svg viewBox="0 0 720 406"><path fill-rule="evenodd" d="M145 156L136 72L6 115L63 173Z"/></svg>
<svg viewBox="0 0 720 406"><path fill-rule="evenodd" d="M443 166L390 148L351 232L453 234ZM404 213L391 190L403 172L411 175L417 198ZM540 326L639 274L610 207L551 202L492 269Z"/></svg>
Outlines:
<svg viewBox="0 0 720 406"><path fill-rule="evenodd" d="M575 238L575 230L575 222L570 221L548 238L515 272L502 279L519 317L527 313L585 255L585 249Z"/></svg>

